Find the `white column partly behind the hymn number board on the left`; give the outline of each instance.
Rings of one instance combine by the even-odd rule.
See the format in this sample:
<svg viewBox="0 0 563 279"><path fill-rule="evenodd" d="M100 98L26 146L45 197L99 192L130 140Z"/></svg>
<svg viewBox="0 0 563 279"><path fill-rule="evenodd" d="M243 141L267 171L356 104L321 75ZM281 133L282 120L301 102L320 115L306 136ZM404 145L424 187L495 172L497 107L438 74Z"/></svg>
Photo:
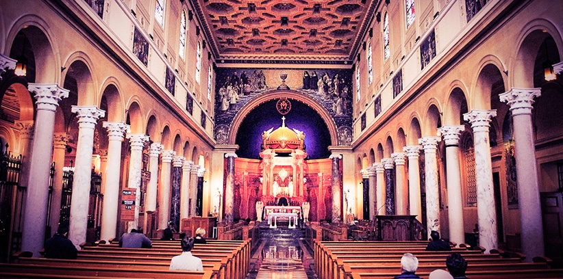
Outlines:
<svg viewBox="0 0 563 279"><path fill-rule="evenodd" d="M139 204L140 204L140 181L142 169L142 148L145 143L149 141L149 136L145 134L127 134L129 139L129 146L131 146L131 154L129 155L129 180L127 187L135 191L135 212L134 220L126 224L125 231L129 232L132 229L137 229L139 226Z"/></svg>

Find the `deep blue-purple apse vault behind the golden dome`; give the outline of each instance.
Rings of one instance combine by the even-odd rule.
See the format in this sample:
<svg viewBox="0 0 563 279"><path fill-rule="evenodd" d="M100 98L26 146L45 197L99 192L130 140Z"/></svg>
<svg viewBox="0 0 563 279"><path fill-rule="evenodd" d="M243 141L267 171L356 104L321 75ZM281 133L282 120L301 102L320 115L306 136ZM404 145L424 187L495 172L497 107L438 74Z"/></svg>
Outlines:
<svg viewBox="0 0 563 279"><path fill-rule="evenodd" d="M275 99L258 105L249 112L245 120L242 120L235 142L239 146L236 151L238 157L260 159L262 133L271 128L275 130L281 127L282 117L285 116L286 127L305 133L307 159L328 158L330 156L328 146L331 140L323 118L305 103L292 99L289 99L290 111L282 115L276 109L277 101Z"/></svg>

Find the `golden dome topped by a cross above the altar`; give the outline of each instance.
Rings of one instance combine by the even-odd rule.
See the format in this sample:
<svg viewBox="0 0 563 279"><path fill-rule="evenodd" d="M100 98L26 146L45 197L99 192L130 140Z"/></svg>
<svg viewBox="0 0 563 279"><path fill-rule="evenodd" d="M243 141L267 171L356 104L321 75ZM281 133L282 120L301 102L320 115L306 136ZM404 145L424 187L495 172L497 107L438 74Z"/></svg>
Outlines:
<svg viewBox="0 0 563 279"><path fill-rule="evenodd" d="M282 117L282 127L273 128L262 133L262 149L273 149L275 152L291 152L291 150L303 150L305 147L305 133L297 129L286 127L286 117Z"/></svg>

